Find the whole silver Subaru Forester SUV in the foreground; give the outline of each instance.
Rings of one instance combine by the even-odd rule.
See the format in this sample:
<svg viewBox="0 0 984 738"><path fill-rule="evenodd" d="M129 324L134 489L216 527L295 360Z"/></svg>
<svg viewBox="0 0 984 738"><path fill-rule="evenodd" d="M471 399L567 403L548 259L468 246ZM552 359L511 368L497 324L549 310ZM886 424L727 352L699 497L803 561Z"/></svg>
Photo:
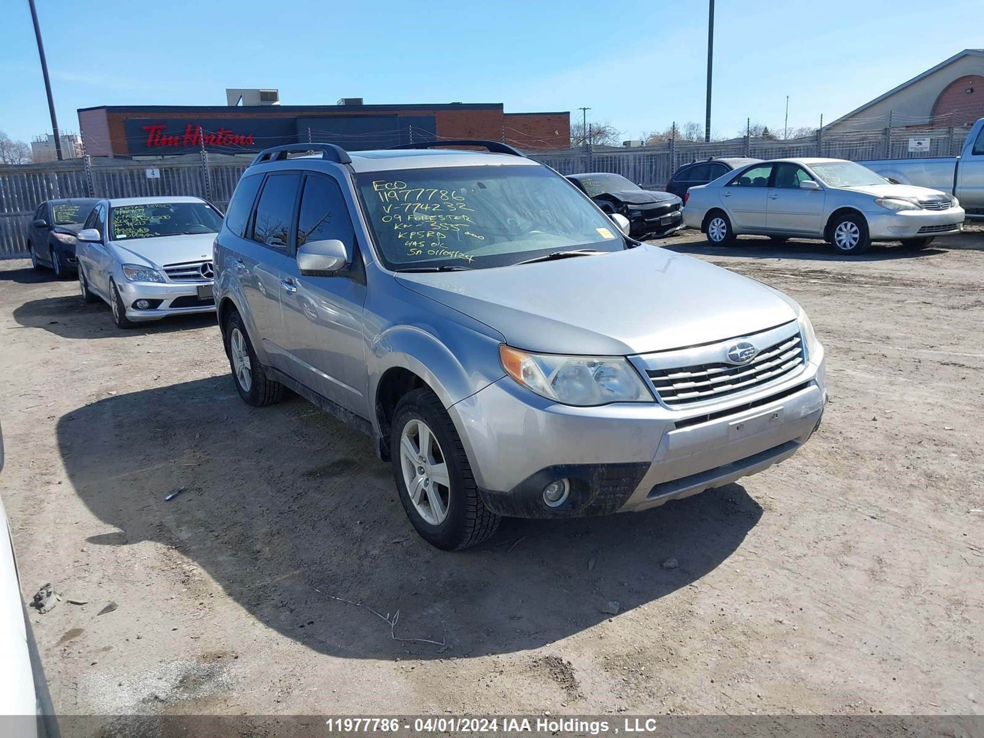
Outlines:
<svg viewBox="0 0 984 738"><path fill-rule="evenodd" d="M644 510L817 428L824 348L793 300L633 241L504 144L423 146L258 154L215 297L242 399L289 389L363 430L427 541Z"/></svg>

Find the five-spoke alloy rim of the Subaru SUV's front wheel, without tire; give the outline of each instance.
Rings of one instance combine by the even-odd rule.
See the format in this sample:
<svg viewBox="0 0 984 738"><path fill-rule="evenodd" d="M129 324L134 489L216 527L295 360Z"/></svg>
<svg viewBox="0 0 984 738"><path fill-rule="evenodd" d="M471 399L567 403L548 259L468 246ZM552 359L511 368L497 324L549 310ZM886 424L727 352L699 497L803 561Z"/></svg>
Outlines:
<svg viewBox="0 0 984 738"><path fill-rule="evenodd" d="M448 517L451 476L448 462L433 431L423 420L412 419L400 433L400 467L414 509L431 525Z"/></svg>

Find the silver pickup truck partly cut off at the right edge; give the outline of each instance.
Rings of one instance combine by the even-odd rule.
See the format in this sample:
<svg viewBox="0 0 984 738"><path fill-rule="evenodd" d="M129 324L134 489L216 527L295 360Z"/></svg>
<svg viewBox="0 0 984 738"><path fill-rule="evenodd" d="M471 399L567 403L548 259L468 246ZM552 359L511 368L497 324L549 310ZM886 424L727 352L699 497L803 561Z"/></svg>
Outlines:
<svg viewBox="0 0 984 738"><path fill-rule="evenodd" d="M859 161L899 184L949 192L972 215L984 215L984 118L967 134L959 156Z"/></svg>

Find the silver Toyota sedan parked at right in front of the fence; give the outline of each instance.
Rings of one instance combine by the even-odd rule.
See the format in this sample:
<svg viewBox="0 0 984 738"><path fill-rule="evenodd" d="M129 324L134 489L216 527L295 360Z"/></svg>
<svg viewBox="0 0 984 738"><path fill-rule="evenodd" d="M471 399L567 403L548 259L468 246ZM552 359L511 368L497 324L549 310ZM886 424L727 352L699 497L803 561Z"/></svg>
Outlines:
<svg viewBox="0 0 984 738"><path fill-rule="evenodd" d="M926 187L893 184L838 158L787 158L744 166L685 196L683 220L714 245L744 234L822 238L842 254L863 254L873 241L923 248L963 229L956 198Z"/></svg>

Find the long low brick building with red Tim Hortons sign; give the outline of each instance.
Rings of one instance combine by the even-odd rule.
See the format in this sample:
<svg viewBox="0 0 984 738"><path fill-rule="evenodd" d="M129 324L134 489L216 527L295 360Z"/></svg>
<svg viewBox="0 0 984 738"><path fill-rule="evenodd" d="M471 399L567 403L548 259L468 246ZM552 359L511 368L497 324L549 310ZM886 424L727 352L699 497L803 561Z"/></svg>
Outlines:
<svg viewBox="0 0 984 738"><path fill-rule="evenodd" d="M81 108L79 128L93 156L188 154L203 146L248 154L307 141L350 151L435 139L491 139L528 150L571 143L570 112L507 113L502 103L102 105Z"/></svg>

